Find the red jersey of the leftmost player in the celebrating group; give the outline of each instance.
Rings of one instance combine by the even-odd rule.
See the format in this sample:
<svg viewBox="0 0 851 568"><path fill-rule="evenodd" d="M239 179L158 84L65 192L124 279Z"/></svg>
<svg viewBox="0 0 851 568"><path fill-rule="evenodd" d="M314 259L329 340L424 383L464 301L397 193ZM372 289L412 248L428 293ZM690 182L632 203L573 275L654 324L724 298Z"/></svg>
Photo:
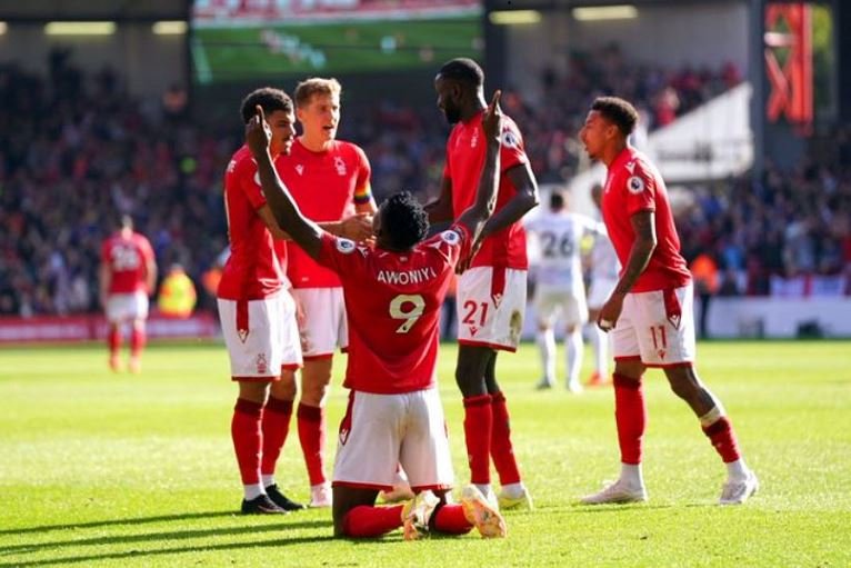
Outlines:
<svg viewBox="0 0 851 568"><path fill-rule="evenodd" d="M266 205L257 162L247 146L240 148L224 173L224 212L228 216L230 257L219 282L218 297L259 300L283 286L286 253L279 259L274 239L257 210ZM279 247L286 251L286 247Z"/></svg>

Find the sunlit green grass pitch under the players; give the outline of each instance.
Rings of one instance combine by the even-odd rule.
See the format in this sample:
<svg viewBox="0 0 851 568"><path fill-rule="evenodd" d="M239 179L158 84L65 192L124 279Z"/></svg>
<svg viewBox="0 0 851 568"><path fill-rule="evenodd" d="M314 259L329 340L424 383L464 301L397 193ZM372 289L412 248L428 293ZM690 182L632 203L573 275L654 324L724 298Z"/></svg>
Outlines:
<svg viewBox="0 0 851 568"><path fill-rule="evenodd" d="M443 347L441 393L459 485L462 409ZM0 566L809 566L851 565L851 343L709 342L703 380L724 401L761 492L714 505L722 466L657 371L647 379L650 501L585 507L618 471L610 389L538 392L534 346L500 379L532 512L509 537L331 537L328 510L241 517L229 425L236 388L219 345L154 345L141 376L100 346L0 350ZM585 355L585 370L590 367ZM330 399L329 461L346 393ZM587 373L585 373L587 375ZM294 429L293 429L294 431ZM290 435L284 491L307 498Z"/></svg>

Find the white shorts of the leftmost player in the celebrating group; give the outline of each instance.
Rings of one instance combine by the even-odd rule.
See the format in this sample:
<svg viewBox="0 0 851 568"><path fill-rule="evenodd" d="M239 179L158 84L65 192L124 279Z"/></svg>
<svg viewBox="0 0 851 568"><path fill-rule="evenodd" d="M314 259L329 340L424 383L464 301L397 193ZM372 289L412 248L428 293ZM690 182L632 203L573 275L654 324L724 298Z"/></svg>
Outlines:
<svg viewBox="0 0 851 568"><path fill-rule="evenodd" d="M278 380L301 367L296 302L281 291L260 300L219 298L219 320L233 380Z"/></svg>

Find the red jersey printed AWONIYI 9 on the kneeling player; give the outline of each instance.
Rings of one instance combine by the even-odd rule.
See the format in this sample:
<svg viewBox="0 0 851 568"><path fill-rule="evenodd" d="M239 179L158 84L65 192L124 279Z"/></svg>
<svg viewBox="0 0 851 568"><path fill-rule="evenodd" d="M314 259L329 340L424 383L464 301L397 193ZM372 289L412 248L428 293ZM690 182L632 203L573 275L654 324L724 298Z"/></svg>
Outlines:
<svg viewBox="0 0 851 568"><path fill-rule="evenodd" d="M391 395L437 379L440 307L470 233L454 225L409 252L359 247L326 233L319 261L340 275L349 320L344 386Z"/></svg>

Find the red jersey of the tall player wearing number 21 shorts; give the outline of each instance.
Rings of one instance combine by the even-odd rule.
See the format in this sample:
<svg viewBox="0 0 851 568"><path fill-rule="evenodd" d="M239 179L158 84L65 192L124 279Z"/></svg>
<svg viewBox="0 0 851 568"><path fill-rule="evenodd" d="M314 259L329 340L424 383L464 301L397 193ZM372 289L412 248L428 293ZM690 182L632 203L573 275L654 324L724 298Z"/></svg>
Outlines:
<svg viewBox="0 0 851 568"><path fill-rule="evenodd" d="M487 150L487 145L482 140L484 133L482 130L483 113L484 111L478 113L469 122L455 124L447 142L447 163L443 169L443 177L452 181L452 212L455 219L473 205L475 192L479 189L479 177L484 167ZM508 117L504 117L502 124L500 160L501 173L529 161L523 149L523 137L514 121ZM501 175L494 215L515 193L517 189L508 176ZM484 239L471 267L503 267L520 270L529 268L523 225L515 222Z"/></svg>

